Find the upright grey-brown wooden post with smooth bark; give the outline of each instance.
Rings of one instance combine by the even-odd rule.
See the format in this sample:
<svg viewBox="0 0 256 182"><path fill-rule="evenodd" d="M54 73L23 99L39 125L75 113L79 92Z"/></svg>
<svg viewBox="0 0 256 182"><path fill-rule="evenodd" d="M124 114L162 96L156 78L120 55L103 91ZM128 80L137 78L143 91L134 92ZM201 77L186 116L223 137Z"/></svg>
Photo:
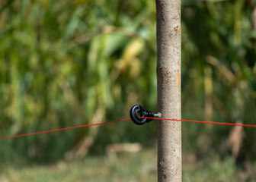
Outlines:
<svg viewBox="0 0 256 182"><path fill-rule="evenodd" d="M181 119L181 0L156 0L158 111ZM181 121L158 121L158 182L181 181Z"/></svg>

